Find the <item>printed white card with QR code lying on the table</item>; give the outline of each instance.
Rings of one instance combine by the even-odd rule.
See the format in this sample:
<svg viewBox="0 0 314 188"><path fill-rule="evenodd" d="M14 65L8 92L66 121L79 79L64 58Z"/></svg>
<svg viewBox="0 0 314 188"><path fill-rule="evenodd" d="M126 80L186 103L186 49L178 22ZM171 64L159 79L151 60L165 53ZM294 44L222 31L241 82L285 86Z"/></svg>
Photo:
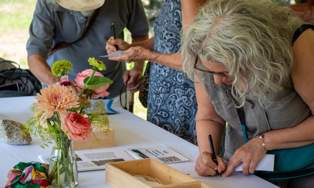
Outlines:
<svg viewBox="0 0 314 188"><path fill-rule="evenodd" d="M132 148L128 150L130 151L129 153L137 159L152 158L162 163L176 163L189 160L167 146L152 148Z"/></svg>

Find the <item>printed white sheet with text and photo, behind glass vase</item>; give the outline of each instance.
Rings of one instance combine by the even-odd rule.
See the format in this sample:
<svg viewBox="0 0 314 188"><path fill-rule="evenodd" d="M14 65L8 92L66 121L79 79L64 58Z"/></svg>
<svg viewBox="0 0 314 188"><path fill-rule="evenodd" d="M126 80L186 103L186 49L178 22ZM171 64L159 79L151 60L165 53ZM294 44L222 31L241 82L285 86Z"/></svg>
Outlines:
<svg viewBox="0 0 314 188"><path fill-rule="evenodd" d="M123 149L80 150L75 151L78 171L105 169L106 163L134 160ZM50 155L39 155L41 162L49 164Z"/></svg>

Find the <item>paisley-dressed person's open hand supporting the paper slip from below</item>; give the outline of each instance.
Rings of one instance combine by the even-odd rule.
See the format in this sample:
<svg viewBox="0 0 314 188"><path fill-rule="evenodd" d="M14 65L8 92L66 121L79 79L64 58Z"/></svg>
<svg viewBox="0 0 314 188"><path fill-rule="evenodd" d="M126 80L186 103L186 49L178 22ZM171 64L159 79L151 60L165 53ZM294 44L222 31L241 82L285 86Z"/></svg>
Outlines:
<svg viewBox="0 0 314 188"><path fill-rule="evenodd" d="M127 54L109 57L108 59L114 61L123 61L127 63L131 63L133 61L145 61L149 59L149 50L141 46L131 47L125 51L127 52Z"/></svg>

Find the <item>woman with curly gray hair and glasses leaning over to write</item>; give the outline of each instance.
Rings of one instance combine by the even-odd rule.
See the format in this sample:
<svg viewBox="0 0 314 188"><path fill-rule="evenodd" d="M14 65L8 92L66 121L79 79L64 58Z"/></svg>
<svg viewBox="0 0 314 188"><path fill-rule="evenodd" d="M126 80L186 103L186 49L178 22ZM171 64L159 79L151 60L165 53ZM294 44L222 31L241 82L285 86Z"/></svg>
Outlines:
<svg viewBox="0 0 314 188"><path fill-rule="evenodd" d="M313 29L270 0L212 0L202 7L181 46L198 102L199 175L218 169L227 177L241 162L248 175L270 150L314 146ZM229 162L217 156L216 165L208 134L218 150L226 122ZM293 181L301 178L302 187L314 185L308 174L285 183L299 187Z"/></svg>

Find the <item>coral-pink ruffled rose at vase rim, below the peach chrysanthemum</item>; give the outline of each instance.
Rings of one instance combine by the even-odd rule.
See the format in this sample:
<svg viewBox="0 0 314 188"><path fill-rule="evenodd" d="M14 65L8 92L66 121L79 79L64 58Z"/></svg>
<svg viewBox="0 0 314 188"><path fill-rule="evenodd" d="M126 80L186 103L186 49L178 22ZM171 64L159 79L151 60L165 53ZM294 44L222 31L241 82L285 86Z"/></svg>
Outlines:
<svg viewBox="0 0 314 188"><path fill-rule="evenodd" d="M65 118L65 124L61 129L67 133L68 138L71 140L83 140L87 141L90 139L90 133L92 132L91 124L89 119L84 118L81 114L76 112L68 111L68 117Z"/></svg>

